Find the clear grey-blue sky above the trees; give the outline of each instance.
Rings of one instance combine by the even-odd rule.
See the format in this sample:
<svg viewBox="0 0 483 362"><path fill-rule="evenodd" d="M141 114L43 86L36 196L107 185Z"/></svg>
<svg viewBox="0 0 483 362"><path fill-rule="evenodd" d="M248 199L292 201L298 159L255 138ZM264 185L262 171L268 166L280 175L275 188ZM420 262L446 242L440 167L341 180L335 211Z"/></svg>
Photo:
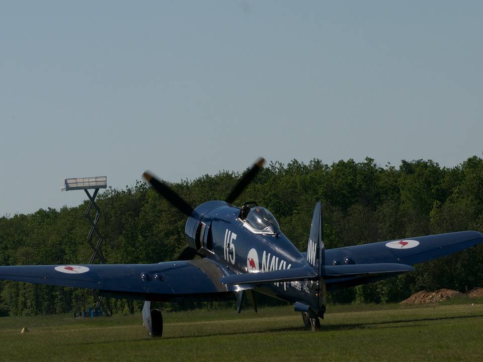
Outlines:
<svg viewBox="0 0 483 362"><path fill-rule="evenodd" d="M0 3L0 215L63 179L483 150L483 2Z"/></svg>

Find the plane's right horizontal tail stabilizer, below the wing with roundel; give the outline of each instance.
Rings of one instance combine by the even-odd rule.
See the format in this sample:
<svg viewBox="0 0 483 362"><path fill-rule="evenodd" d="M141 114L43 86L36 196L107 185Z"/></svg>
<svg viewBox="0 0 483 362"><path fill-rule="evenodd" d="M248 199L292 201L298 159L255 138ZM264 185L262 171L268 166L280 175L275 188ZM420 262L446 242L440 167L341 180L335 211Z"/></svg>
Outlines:
<svg viewBox="0 0 483 362"><path fill-rule="evenodd" d="M398 263L326 265L324 279L357 277L374 274L401 274L413 272L411 265Z"/></svg>

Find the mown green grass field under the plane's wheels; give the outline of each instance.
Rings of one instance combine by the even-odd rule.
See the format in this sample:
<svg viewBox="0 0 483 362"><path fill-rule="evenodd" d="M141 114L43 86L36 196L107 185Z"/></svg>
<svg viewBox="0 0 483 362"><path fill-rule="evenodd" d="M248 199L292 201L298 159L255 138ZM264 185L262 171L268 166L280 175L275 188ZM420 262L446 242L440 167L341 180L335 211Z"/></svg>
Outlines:
<svg viewBox="0 0 483 362"><path fill-rule="evenodd" d="M473 301L472 301L473 302ZM165 313L164 336L141 316L0 318L1 361L483 360L483 301L424 307L335 306L321 331L291 307ZM21 334L22 327L29 329Z"/></svg>

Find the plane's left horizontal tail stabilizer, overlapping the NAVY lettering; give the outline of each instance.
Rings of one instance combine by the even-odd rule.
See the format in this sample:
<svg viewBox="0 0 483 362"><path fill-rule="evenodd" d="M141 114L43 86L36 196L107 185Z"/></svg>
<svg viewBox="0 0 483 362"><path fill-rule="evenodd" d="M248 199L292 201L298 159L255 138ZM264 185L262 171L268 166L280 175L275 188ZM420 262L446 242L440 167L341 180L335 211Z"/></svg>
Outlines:
<svg viewBox="0 0 483 362"><path fill-rule="evenodd" d="M293 269L274 270L273 272L232 274L221 278L220 282L222 284L259 284L291 282L316 277L317 274L312 268L303 266Z"/></svg>

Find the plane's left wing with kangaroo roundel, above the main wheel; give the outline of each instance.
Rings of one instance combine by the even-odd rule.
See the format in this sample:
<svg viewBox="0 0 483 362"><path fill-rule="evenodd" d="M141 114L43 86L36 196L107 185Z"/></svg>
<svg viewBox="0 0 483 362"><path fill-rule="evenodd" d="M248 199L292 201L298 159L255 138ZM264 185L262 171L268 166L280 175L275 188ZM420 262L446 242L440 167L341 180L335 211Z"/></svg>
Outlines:
<svg viewBox="0 0 483 362"><path fill-rule="evenodd" d="M224 276L223 268L208 259L157 264L0 266L0 280L96 289L101 295L145 300L228 294L235 287L221 284L219 280Z"/></svg>

